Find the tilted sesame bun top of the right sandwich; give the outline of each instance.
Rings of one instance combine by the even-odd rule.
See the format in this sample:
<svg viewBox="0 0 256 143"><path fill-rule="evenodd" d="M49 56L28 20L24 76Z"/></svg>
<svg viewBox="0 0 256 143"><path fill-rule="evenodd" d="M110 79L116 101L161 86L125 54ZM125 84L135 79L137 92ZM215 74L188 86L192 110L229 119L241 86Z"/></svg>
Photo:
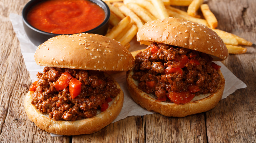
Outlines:
<svg viewBox="0 0 256 143"><path fill-rule="evenodd" d="M147 22L139 28L137 41L146 45L157 42L179 46L209 54L217 61L228 56L223 40L210 28L173 17Z"/></svg>

